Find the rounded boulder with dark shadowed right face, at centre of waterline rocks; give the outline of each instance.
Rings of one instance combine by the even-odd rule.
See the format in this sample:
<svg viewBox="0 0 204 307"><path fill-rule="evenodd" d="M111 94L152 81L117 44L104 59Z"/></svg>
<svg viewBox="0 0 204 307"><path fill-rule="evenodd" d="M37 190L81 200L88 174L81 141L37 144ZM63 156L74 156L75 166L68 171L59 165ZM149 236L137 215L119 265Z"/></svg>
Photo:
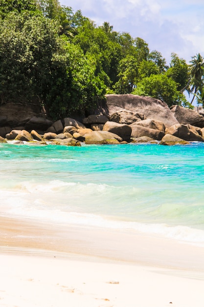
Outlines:
<svg viewBox="0 0 204 307"><path fill-rule="evenodd" d="M123 141L129 141L131 138L132 128L125 124L118 124L115 122L106 122L103 131L109 131L119 135Z"/></svg>

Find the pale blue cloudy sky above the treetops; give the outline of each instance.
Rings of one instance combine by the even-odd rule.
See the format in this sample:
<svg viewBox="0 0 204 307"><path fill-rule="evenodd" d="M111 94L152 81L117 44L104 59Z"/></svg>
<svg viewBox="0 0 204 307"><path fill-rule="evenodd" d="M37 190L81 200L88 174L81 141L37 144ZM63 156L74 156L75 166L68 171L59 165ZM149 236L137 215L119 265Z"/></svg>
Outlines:
<svg viewBox="0 0 204 307"><path fill-rule="evenodd" d="M171 61L171 53L187 63L204 56L204 0L60 0L97 26L109 22L113 30L128 32Z"/></svg>

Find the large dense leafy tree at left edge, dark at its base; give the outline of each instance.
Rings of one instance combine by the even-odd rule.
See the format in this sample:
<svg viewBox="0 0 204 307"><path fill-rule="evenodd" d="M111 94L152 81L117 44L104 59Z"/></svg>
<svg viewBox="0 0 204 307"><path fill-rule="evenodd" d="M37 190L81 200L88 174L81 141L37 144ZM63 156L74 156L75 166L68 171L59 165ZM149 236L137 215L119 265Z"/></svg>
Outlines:
<svg viewBox="0 0 204 307"><path fill-rule="evenodd" d="M12 12L0 23L0 90L5 101L40 101L58 82L58 70L66 77L56 24L43 17ZM9 48L8 48L9 46ZM55 70L53 70L53 66Z"/></svg>

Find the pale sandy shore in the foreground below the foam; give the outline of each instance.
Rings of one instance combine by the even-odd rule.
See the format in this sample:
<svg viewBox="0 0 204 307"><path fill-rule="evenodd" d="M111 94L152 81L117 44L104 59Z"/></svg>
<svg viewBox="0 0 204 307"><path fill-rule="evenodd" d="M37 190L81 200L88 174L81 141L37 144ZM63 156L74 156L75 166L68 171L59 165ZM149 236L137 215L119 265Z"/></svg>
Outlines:
<svg viewBox="0 0 204 307"><path fill-rule="evenodd" d="M0 217L0 307L204 307L204 247Z"/></svg>

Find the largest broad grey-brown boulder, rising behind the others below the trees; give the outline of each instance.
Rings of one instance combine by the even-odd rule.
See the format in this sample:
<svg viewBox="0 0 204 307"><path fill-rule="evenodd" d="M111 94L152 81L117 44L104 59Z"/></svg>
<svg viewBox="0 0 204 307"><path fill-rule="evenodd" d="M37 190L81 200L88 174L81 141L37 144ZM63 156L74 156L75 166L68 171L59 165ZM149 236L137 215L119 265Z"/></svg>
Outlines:
<svg viewBox="0 0 204 307"><path fill-rule="evenodd" d="M126 109L134 113L144 114L146 118L161 121L165 127L178 124L168 105L155 98L132 94L106 95L106 102L110 115L121 109Z"/></svg>

